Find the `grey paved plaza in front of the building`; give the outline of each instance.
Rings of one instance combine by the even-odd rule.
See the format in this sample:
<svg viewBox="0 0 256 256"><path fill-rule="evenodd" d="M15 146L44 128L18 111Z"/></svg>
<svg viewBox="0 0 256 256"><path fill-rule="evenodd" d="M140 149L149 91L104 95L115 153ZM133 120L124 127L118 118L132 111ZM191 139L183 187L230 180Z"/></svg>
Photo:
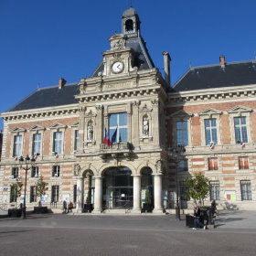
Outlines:
<svg viewBox="0 0 256 256"><path fill-rule="evenodd" d="M29 215L0 219L1 255L255 255L256 212L222 211L217 229L173 215Z"/></svg>

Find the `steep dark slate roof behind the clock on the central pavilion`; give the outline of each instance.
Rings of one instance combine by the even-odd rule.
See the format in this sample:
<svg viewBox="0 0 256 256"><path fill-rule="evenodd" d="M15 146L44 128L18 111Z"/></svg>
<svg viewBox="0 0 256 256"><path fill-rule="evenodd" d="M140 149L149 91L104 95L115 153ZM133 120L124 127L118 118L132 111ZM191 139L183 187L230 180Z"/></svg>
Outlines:
<svg viewBox="0 0 256 256"><path fill-rule="evenodd" d="M139 70L155 68L155 64L151 59L148 49L145 46L144 39L142 37L130 37L126 40L126 47L133 48L134 66L138 67ZM93 71L91 77L97 77L99 72L104 69L103 62Z"/></svg>

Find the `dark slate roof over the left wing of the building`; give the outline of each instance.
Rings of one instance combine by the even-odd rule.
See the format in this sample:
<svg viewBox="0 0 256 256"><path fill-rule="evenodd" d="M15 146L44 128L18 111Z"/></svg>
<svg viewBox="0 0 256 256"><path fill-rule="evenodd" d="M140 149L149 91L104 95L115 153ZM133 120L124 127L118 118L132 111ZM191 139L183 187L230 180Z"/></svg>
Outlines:
<svg viewBox="0 0 256 256"><path fill-rule="evenodd" d="M74 96L79 93L78 84L65 84L61 89L59 89L59 86L40 88L17 103L8 112L74 104L77 103Z"/></svg>

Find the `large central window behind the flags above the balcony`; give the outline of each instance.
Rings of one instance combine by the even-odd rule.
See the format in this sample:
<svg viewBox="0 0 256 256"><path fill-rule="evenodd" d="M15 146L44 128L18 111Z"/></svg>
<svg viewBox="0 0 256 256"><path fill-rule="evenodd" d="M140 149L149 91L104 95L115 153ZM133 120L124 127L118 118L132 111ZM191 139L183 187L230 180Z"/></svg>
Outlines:
<svg viewBox="0 0 256 256"><path fill-rule="evenodd" d="M112 113L109 116L110 140L112 143L127 142L127 113ZM114 135L116 131L116 135Z"/></svg>

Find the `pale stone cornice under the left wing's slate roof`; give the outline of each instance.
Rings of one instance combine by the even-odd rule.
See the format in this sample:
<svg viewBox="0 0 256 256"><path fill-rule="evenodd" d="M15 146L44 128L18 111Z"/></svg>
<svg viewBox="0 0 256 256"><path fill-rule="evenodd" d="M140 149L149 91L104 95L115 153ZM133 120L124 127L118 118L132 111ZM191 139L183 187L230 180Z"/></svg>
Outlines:
<svg viewBox="0 0 256 256"><path fill-rule="evenodd" d="M4 118L5 121L16 121L26 119L31 120L51 116L65 116L70 114L78 114L78 107L79 104L70 104L58 107L30 109L26 111L3 112L0 116Z"/></svg>

